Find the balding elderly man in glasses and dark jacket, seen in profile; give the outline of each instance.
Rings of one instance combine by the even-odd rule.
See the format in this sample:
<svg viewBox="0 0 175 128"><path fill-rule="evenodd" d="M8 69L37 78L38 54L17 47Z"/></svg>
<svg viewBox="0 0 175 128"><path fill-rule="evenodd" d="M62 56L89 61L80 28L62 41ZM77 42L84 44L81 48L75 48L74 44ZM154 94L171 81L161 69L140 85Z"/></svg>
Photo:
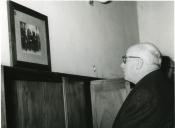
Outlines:
<svg viewBox="0 0 175 128"><path fill-rule="evenodd" d="M121 67L135 84L113 128L173 128L173 86L160 70L161 53L151 43L131 46Z"/></svg>

